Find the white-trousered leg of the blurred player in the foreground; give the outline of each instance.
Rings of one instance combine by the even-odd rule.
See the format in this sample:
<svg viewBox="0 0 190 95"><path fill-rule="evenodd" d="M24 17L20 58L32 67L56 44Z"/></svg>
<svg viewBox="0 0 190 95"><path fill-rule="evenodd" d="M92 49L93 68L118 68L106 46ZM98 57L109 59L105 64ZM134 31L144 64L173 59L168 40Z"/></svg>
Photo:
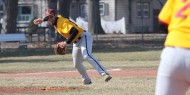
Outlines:
<svg viewBox="0 0 190 95"><path fill-rule="evenodd" d="M183 52L166 47L161 55L156 82L156 95L185 95L189 87L186 79Z"/></svg>

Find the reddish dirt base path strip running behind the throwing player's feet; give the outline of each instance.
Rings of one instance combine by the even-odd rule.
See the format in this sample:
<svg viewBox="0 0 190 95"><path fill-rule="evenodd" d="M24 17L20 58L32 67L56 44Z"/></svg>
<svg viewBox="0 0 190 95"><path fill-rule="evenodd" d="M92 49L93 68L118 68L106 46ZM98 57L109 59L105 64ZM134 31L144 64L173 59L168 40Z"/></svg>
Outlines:
<svg viewBox="0 0 190 95"><path fill-rule="evenodd" d="M97 77L99 74L95 70L87 71L89 76ZM156 76L157 69L111 69L108 72L113 77L128 77L128 76ZM0 73L0 77L79 77L77 71L56 71L56 72L36 72L36 73Z"/></svg>

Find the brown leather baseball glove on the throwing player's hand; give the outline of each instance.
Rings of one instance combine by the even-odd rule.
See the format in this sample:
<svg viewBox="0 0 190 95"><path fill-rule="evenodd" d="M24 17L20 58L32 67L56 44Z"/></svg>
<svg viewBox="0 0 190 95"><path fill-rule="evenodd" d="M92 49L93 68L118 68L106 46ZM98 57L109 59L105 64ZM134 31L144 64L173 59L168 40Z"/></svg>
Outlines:
<svg viewBox="0 0 190 95"><path fill-rule="evenodd" d="M54 47L54 52L57 55L65 55L67 47L60 47L59 44Z"/></svg>

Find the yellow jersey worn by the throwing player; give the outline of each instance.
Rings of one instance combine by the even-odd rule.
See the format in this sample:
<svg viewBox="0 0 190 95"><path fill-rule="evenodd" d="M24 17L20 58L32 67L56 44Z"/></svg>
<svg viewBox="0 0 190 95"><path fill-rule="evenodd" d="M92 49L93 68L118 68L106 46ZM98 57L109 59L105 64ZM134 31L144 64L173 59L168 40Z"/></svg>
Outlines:
<svg viewBox="0 0 190 95"><path fill-rule="evenodd" d="M84 30L82 28L78 27L72 21L70 21L66 18L63 18L61 15L58 15L57 17L58 17L57 26L55 28L56 28L57 32L59 32L59 34L64 36L66 39L68 39L70 37L70 30L72 27L74 27L78 30L78 34L75 37L75 39L73 40L73 42L76 41L78 39L78 37L80 37L81 34L84 32Z"/></svg>

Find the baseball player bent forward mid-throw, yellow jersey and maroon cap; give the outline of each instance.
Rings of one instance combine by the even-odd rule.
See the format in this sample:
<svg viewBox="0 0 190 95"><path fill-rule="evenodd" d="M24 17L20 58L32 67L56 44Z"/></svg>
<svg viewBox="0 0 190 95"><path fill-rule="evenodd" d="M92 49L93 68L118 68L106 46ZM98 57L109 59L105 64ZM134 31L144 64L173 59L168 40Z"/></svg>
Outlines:
<svg viewBox="0 0 190 95"><path fill-rule="evenodd" d="M53 9L46 10L44 19L38 18L33 22L34 24L41 24L44 21L48 21L50 25L54 26L59 34L66 38L66 41L58 43L59 46L65 47L68 44L73 43L73 63L75 68L81 74L84 84L91 84L92 81L83 66L83 58L86 59L101 76L104 76L106 82L112 78L100 62L91 54L93 38L89 32L83 30L77 24L61 15L56 16Z"/></svg>

